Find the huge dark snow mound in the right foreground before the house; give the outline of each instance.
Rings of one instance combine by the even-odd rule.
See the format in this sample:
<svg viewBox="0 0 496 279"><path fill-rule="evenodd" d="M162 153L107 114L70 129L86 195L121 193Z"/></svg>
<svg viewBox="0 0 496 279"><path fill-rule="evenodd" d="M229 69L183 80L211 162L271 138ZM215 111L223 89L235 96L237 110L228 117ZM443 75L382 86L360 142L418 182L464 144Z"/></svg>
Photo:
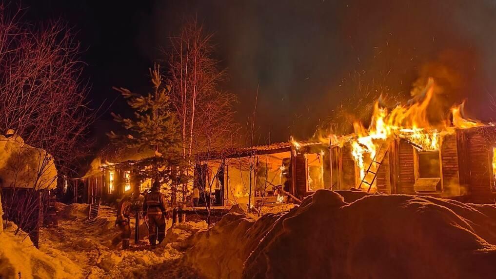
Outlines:
<svg viewBox="0 0 496 279"><path fill-rule="evenodd" d="M354 193L341 192L351 200ZM286 214L228 214L186 259L209 278L492 278L496 207L319 190ZM348 201L348 199L346 199Z"/></svg>

